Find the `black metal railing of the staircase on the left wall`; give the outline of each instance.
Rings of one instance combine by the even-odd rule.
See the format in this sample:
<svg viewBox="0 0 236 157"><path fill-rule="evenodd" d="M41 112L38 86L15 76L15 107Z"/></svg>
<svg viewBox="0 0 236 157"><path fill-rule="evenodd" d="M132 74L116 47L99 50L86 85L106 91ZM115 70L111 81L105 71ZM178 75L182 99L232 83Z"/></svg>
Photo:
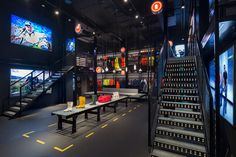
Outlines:
<svg viewBox="0 0 236 157"><path fill-rule="evenodd" d="M12 104L16 103L17 101L20 102L20 109L22 109L22 99L24 99L26 95L28 95L35 89L41 88L42 93L45 90L47 90L45 88L45 83L47 82L48 79L52 77L52 75L55 72L58 73L57 76L62 76L64 75L66 71L69 71L74 67L75 62L74 62L74 59L72 58L74 57L74 55L75 55L74 53L67 54L61 59L57 60L48 69L34 70L31 73L27 74L26 76L11 83L8 96L2 101L2 114L4 113L4 111L10 108ZM72 60L72 62L68 63L70 60ZM46 77L46 74L47 74L47 77ZM19 84L19 86L17 86L17 91L19 91L19 93L12 95L12 90L16 88L15 87L16 84Z"/></svg>

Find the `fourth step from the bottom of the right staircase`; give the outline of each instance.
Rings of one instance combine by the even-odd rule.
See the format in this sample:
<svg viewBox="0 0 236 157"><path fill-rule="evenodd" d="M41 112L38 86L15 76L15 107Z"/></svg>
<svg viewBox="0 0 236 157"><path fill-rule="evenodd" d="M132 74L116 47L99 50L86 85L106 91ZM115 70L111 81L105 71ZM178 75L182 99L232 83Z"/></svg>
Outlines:
<svg viewBox="0 0 236 157"><path fill-rule="evenodd" d="M203 122L178 119L178 118L159 117L158 124L168 125L168 126L171 125L171 126L176 126L176 127L184 127L184 128L188 128L191 130L197 130L197 131L203 130Z"/></svg>

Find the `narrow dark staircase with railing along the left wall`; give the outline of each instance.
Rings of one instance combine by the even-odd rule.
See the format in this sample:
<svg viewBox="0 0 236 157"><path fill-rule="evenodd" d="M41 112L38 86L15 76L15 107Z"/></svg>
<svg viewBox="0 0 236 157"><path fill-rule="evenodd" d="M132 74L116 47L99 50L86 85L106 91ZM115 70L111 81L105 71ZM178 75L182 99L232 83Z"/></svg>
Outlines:
<svg viewBox="0 0 236 157"><path fill-rule="evenodd" d="M33 103L55 85L58 80L74 69L74 65L66 65L68 59L73 60L73 55L74 54L67 54L49 67L49 70L42 70L36 76L34 74L36 70L34 70L30 74L13 82L10 85L10 89L15 84L20 84L19 95L11 96L9 92L9 96L5 99L6 101L2 102L2 115L10 119L20 116L23 111L33 105ZM46 77L46 73L48 77ZM22 80L26 81L22 84Z"/></svg>

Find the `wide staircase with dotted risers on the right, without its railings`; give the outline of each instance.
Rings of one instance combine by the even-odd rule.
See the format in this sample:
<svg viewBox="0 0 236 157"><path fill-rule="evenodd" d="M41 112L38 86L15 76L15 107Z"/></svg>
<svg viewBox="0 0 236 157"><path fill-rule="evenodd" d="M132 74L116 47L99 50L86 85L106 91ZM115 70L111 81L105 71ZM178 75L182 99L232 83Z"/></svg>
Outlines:
<svg viewBox="0 0 236 157"><path fill-rule="evenodd" d="M204 116L194 57L168 59L152 157L206 157Z"/></svg>

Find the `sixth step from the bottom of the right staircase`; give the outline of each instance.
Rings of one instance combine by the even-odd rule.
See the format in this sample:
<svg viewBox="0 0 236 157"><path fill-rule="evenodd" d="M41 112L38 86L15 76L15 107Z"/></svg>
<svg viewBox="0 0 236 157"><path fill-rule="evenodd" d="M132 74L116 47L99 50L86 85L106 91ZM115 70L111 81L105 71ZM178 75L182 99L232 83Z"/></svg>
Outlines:
<svg viewBox="0 0 236 157"><path fill-rule="evenodd" d="M197 103L190 103L190 102L172 102L172 101L161 101L161 106L163 108L186 108L186 109L193 109L194 111L200 111L201 106Z"/></svg>

